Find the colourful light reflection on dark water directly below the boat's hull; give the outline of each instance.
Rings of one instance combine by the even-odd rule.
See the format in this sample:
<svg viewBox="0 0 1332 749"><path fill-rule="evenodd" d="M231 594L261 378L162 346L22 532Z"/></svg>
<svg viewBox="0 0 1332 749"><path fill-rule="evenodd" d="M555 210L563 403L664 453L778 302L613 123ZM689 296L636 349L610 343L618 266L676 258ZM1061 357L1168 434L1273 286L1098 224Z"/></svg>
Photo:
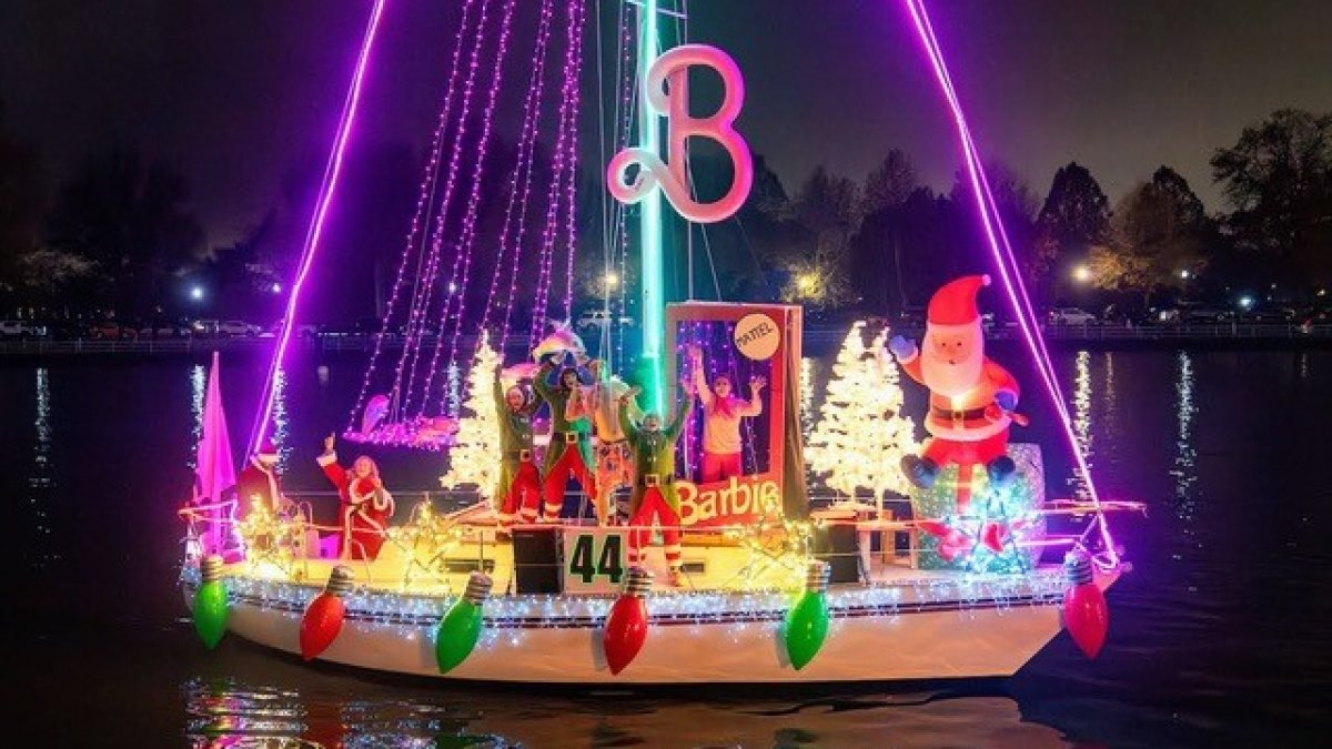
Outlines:
<svg viewBox="0 0 1332 749"><path fill-rule="evenodd" d="M826 694L809 701L476 694L369 686L382 698L192 678L193 746L1070 746L999 688Z"/></svg>

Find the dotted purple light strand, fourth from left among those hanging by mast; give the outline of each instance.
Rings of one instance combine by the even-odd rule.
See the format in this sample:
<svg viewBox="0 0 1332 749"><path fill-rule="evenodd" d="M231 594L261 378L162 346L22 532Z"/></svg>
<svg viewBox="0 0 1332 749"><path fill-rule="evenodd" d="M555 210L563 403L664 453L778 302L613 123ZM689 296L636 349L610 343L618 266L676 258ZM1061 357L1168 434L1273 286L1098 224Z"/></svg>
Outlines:
<svg viewBox="0 0 1332 749"><path fill-rule="evenodd" d="M531 193L531 165L535 155L537 120L539 119L541 101L546 85L546 59L550 48L550 21L554 16L554 0L542 0L541 20L537 27L537 45L531 53L531 76L527 80L527 97L522 104L522 131L518 135L518 155L514 164L513 177L509 181L509 199L505 204L503 221L500 228L500 253L496 259L496 269L490 276L490 289L486 293L486 307L482 311L481 329L490 324L490 315L494 311L496 296L500 289L500 279L506 268L506 257L510 244L513 245L513 271L509 275L509 295L505 300L503 327L497 339L498 351L503 352L509 340L509 317L513 309L513 300L518 289L518 275L522 269L522 237L527 220L527 197ZM517 227L514 225L517 220ZM510 243L510 239L513 241ZM480 345L480 343L478 343Z"/></svg>

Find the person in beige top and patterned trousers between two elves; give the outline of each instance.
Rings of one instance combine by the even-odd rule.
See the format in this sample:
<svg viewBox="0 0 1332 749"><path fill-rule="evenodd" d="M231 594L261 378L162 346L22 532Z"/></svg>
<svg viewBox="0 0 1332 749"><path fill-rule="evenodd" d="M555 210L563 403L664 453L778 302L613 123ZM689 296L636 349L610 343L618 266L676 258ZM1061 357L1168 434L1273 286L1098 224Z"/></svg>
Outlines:
<svg viewBox="0 0 1332 749"><path fill-rule="evenodd" d="M623 380L611 376L610 368L599 359L587 364L587 372L591 374L591 385L574 390L565 416L570 420L583 417L591 420L593 433L597 437L597 446L593 449L597 456L597 494L593 497L593 504L597 521L601 525L614 525L615 508L611 505L611 497L621 486L634 484L629 442L625 430L619 428L619 398L631 390ZM633 398L629 401L629 416L635 424L643 417L638 401Z"/></svg>

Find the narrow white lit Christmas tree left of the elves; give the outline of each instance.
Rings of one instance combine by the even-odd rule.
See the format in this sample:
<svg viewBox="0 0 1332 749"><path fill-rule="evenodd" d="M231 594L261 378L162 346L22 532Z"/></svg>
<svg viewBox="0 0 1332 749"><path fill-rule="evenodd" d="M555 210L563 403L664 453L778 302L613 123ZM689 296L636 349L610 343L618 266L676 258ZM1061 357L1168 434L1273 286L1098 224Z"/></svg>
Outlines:
<svg viewBox="0 0 1332 749"><path fill-rule="evenodd" d="M500 355L482 332L477 357L468 372L468 400L458 432L449 448L449 472L440 477L445 489L476 486L481 498L490 501L500 481L500 412L494 386Z"/></svg>

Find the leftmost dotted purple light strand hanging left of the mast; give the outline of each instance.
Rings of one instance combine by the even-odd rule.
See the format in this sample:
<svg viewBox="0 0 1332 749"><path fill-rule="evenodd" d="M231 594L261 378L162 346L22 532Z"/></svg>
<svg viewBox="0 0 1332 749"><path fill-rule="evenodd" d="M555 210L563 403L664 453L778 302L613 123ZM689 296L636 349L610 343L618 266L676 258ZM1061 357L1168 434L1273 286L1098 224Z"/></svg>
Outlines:
<svg viewBox="0 0 1332 749"><path fill-rule="evenodd" d="M393 313L398 307L398 299L402 295L402 288L406 285L406 269L412 261L412 251L417 247L417 241L421 240L421 257L418 257L418 265L421 259L424 259L426 247L424 237L424 227L429 223L429 212L434 201L434 188L440 181L440 153L444 149L445 133L449 127L449 115L453 109L454 93L458 85L458 73L461 71L462 61L462 45L468 33L472 8L476 5L476 0L465 0L462 5L462 19L458 23L458 33L453 41L453 60L449 65L449 79L448 87L445 88L444 104L440 108L440 115L436 120L434 133L430 136L430 152L426 160L425 171L421 177L421 187L417 193L417 207L412 216L412 225L408 229L406 241L402 245L402 256L398 260L398 273L393 280L393 291L389 295L389 303L385 308L384 320L380 324L380 332L374 336L374 348L370 353L370 364L365 371L365 376L361 380L361 390L356 397L356 405L352 408L352 413L348 416L346 432L352 433L356 430L356 417L365 408L365 400L370 394L370 386L374 381L374 373L380 361L380 356L384 351L384 341L389 335L389 325L393 320ZM413 291L413 297L416 291ZM404 331L406 333L406 331ZM406 347L409 344L404 343L404 356L406 356ZM394 398L396 400L396 398Z"/></svg>

